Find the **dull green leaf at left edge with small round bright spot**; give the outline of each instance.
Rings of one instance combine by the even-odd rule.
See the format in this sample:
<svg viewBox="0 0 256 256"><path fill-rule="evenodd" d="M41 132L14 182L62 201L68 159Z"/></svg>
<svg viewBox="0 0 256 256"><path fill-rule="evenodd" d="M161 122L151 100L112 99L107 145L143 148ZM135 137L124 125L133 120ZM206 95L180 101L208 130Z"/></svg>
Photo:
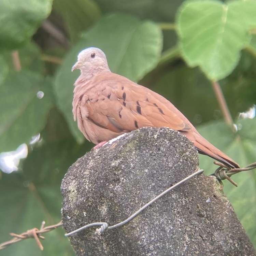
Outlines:
<svg viewBox="0 0 256 256"><path fill-rule="evenodd" d="M44 128L52 106L51 80L28 71L10 72L0 86L0 152L28 143Z"/></svg>

